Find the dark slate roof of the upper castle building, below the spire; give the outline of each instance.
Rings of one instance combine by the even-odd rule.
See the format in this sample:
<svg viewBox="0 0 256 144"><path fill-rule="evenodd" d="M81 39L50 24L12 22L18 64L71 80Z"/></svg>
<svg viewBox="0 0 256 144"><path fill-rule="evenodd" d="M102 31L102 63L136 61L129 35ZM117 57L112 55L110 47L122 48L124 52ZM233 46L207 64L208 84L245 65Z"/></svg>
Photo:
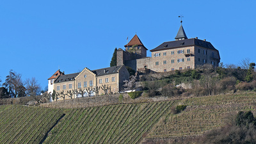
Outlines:
<svg viewBox="0 0 256 144"><path fill-rule="evenodd" d="M214 51L218 51L213 47L213 45L210 42L206 42L204 40L199 40L196 38L189 38L185 40L175 40L171 42L164 42L163 44L159 45L155 49L150 50L151 52L154 51L162 51L166 49L176 49L179 47L189 47L189 46L199 46L199 47L204 47L207 49L212 49Z"/></svg>

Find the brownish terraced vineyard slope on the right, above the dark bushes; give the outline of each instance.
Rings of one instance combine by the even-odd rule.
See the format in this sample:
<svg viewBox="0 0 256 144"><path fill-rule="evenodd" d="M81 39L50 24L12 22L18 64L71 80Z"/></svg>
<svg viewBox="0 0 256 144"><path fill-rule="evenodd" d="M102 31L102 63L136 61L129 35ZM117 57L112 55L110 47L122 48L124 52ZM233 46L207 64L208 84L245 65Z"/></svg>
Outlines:
<svg viewBox="0 0 256 144"><path fill-rule="evenodd" d="M161 118L147 139L195 136L215 127L225 125L232 112L256 112L256 94L214 95L180 100L179 104L188 106L182 113Z"/></svg>

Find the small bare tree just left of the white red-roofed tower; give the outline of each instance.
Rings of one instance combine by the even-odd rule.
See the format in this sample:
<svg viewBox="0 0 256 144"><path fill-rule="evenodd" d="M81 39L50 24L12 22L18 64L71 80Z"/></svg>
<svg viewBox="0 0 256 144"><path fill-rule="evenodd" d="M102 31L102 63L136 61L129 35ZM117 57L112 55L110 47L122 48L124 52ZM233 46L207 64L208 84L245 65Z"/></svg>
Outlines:
<svg viewBox="0 0 256 144"><path fill-rule="evenodd" d="M25 84L26 84L27 95L29 96L38 95L38 93L40 92L41 86L36 81L35 77L32 77L31 79L26 79Z"/></svg>

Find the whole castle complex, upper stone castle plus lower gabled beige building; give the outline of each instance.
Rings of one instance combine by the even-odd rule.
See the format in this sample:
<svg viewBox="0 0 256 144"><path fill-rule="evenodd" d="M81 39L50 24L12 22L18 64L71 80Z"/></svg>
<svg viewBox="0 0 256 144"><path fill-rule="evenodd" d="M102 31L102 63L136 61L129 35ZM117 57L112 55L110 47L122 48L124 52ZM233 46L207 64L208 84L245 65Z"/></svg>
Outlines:
<svg viewBox="0 0 256 144"><path fill-rule="evenodd" d="M138 35L134 35L124 47L125 51L122 49L116 51L115 67L99 70L84 68L82 72L67 75L57 70L48 79L48 92L52 93L55 90L58 94L64 93L62 99L65 99L65 95L68 95L70 90L76 92L73 93L74 98L120 92L124 80L129 79L129 72L125 66L139 72L168 72L195 69L205 64L218 67L220 63L219 51L210 42L199 40L197 37L188 39L182 21L175 40L163 42L150 50L151 57L147 57L148 49Z"/></svg>

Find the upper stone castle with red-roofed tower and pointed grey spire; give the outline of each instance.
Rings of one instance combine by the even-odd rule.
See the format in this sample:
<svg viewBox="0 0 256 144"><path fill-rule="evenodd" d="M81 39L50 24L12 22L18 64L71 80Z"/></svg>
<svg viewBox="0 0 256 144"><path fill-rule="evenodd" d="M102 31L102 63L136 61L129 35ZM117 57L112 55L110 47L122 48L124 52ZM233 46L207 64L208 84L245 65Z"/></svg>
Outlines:
<svg viewBox="0 0 256 144"><path fill-rule="evenodd" d="M189 38L180 22L179 31L174 41L150 50L151 57L147 57L147 48L142 44L138 35L124 45L125 51L116 51L117 65L125 65L133 70L151 70L154 72L168 72L171 70L195 69L200 65L211 64L218 67L220 54L214 46L206 40Z"/></svg>

